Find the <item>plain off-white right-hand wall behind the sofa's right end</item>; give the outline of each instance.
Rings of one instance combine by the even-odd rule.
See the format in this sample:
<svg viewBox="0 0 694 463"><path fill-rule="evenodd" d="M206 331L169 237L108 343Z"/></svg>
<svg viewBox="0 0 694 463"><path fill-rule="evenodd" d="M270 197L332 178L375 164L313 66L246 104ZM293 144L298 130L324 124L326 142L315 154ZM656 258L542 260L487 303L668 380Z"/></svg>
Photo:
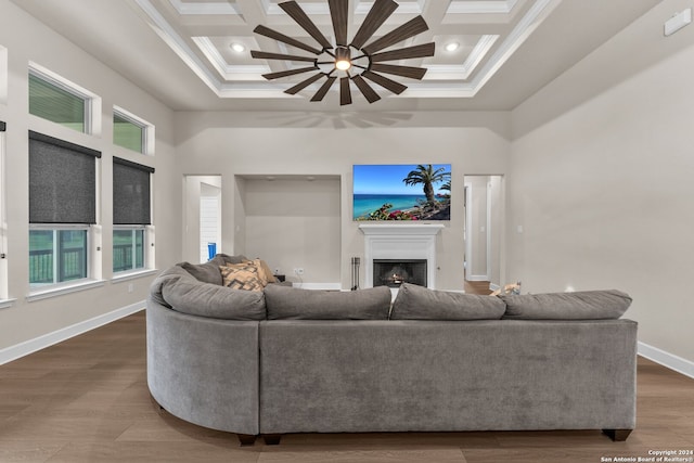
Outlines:
<svg viewBox="0 0 694 463"><path fill-rule="evenodd" d="M628 292L639 339L694 365L694 27L663 36L685 7L664 1L513 112L506 249L524 292ZM622 79L605 67L644 55Z"/></svg>

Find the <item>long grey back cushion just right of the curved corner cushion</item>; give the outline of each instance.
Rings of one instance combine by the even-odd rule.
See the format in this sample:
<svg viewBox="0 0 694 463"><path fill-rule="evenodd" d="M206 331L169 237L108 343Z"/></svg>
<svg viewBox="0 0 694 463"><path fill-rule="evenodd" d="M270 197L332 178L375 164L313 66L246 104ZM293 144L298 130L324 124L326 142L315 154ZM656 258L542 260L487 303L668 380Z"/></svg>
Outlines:
<svg viewBox="0 0 694 463"><path fill-rule="evenodd" d="M269 320L387 320L390 290L313 291L269 284L265 299Z"/></svg>

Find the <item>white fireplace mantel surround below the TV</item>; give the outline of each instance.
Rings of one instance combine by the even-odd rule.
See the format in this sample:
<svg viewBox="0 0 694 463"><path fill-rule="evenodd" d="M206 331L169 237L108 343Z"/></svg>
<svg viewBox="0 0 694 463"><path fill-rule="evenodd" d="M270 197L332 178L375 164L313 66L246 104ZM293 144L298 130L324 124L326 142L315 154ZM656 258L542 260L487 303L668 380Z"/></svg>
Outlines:
<svg viewBox="0 0 694 463"><path fill-rule="evenodd" d="M374 259L426 259L426 286L436 287L438 223L360 223L364 234L364 284L373 287Z"/></svg>

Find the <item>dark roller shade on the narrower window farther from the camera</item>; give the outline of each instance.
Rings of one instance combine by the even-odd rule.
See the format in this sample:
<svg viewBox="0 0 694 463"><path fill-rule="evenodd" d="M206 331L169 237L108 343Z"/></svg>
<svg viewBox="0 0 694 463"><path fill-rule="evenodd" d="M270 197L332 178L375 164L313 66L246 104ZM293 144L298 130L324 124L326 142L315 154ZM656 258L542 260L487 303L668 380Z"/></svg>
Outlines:
<svg viewBox="0 0 694 463"><path fill-rule="evenodd" d="M113 158L113 223L149 226L152 167Z"/></svg>

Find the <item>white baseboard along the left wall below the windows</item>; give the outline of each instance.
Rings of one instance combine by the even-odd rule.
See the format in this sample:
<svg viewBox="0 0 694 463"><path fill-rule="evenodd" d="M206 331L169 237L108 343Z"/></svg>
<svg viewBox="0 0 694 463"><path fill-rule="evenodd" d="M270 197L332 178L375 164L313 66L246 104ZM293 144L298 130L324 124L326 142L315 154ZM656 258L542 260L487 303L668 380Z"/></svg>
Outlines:
<svg viewBox="0 0 694 463"><path fill-rule="evenodd" d="M145 303L144 300L142 300L140 303L136 303L127 307L121 307L111 312L94 317L93 319L85 320L70 326L65 326L61 330L44 334L37 338L25 340L24 343L0 349L0 365L22 358L24 356L28 356L29 353L36 352L37 350L44 349L54 344L62 343L63 340L94 330L99 326L103 326L124 317L139 312L140 310L144 309L144 305Z"/></svg>

